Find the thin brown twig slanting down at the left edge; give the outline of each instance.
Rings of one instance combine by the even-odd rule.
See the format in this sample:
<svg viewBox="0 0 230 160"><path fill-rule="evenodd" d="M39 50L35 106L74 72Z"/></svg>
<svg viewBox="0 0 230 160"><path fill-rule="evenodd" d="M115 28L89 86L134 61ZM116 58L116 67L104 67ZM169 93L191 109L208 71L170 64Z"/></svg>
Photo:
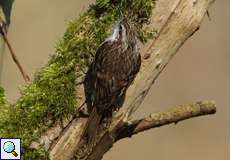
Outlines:
<svg viewBox="0 0 230 160"><path fill-rule="evenodd" d="M9 48L9 51L10 51L10 54L11 54L11 57L13 58L14 62L16 63L18 69L20 70L22 76L23 76L23 79L25 80L26 83L29 83L30 81L30 77L26 74L26 72L23 70L18 58L16 57L16 54L7 38L7 35L6 35L6 32L5 32L5 29L4 29L4 24L3 24L3 21L0 22L1 23L1 26L0 26L0 33L2 34L2 37L7 45L7 47Z"/></svg>

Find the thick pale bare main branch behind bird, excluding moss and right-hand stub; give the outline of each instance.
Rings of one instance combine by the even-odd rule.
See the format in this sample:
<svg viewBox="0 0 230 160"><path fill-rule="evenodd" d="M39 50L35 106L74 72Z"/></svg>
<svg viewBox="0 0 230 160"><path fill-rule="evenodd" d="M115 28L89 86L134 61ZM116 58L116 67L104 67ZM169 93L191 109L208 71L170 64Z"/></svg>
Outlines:
<svg viewBox="0 0 230 160"><path fill-rule="evenodd" d="M135 82L126 93L125 106L128 111L119 111L113 116L111 125L96 135L96 144L78 145L86 118L74 119L69 128L62 132L50 150L51 159L101 159L116 140L117 128L125 127L123 121L129 120L140 106L156 78L177 53L184 42L197 31L203 17L213 0L164 0L157 1L153 10L149 28L157 30L157 37L142 46L142 68ZM74 133L74 135L73 135ZM67 138L68 137L68 138ZM76 138L77 137L77 138ZM68 141L67 141L68 139ZM87 146L87 147L86 147ZM72 156L71 156L72 155Z"/></svg>

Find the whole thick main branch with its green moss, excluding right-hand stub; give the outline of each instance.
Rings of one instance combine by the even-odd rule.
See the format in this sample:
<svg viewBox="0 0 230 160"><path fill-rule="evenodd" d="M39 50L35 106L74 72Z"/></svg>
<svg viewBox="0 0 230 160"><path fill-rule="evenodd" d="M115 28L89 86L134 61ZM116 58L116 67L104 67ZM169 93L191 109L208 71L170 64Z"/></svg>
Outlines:
<svg viewBox="0 0 230 160"><path fill-rule="evenodd" d="M76 149L87 118L76 112L82 101L79 96L84 97L80 89L82 86L76 84L84 79L96 49L118 18L119 9L123 14L132 15L140 41L148 42L143 53L149 56L143 60L142 69L127 93L125 104L129 107L128 113L132 113L179 47L199 27L213 0L194 2L158 1L158 8L154 8L154 0L126 0L126 3L123 0L96 0L84 14L69 22L63 38L56 45L56 54L36 73L34 81L21 90L22 95L15 104L8 103L3 89L0 89L0 137L22 138L24 159L49 159L50 156L51 159L65 160L78 157ZM152 11L155 11L153 18ZM150 29L143 29L146 24L150 24ZM153 39L155 30L157 38ZM117 115L120 117L113 117L113 123L102 136L114 138L113 131L120 120L129 118L120 112ZM64 122L69 116L71 118ZM57 135L53 134L55 131L50 134L53 128L58 130ZM103 140L100 138L99 141ZM112 140L107 144L112 145L115 139ZM46 145L47 141L51 141L51 146ZM97 152L88 149L87 153L92 156ZM90 156L86 155L86 158Z"/></svg>

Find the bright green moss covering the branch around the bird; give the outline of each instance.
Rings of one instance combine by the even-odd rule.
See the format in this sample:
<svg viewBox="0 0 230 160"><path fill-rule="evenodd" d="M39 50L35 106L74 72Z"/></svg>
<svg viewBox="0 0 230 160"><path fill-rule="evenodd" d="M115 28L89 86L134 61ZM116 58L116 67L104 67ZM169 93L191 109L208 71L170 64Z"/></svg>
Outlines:
<svg viewBox="0 0 230 160"><path fill-rule="evenodd" d="M0 88L0 137L22 138L24 159L48 159L43 148L33 150L30 144L53 122L74 112L77 106L75 82L84 77L82 71L87 69L92 55L117 20L120 1L97 0L85 14L69 22L56 45L56 54L36 73L33 83L22 89L16 104L9 105ZM144 41L149 33L141 28L148 23L153 6L153 0L127 0L120 7L124 14L130 13L129 8L132 8L139 38Z"/></svg>

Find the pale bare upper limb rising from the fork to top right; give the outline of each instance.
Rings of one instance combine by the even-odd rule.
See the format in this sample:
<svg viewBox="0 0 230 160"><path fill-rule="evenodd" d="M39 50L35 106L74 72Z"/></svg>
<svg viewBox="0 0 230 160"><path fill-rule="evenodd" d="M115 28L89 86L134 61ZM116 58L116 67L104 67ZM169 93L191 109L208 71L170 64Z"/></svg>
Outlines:
<svg viewBox="0 0 230 160"><path fill-rule="evenodd" d="M150 57L143 60L142 69L127 92L125 106L129 107L129 115L140 107L151 86L178 49L200 28L202 19L213 2L214 0L157 2L150 28L157 27L158 36L143 47L144 55L148 54Z"/></svg>

